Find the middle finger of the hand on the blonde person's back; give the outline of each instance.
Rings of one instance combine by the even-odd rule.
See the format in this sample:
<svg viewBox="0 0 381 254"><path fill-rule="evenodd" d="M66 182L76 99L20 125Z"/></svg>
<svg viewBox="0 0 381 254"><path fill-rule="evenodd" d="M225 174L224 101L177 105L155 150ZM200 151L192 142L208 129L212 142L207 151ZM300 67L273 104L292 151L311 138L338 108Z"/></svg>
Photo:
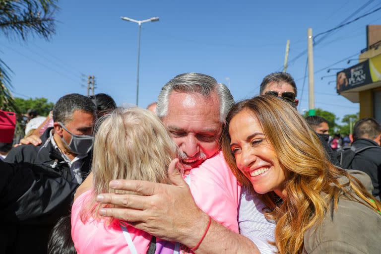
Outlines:
<svg viewBox="0 0 381 254"><path fill-rule="evenodd" d="M118 207L128 207L131 209L144 210L147 208L149 197L133 194L104 193L97 196L99 203L113 204Z"/></svg>

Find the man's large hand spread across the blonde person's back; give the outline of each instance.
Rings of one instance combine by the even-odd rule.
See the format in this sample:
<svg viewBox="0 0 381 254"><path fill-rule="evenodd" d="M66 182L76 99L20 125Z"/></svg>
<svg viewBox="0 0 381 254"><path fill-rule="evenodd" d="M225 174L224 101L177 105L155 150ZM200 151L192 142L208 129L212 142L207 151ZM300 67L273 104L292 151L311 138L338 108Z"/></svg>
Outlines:
<svg viewBox="0 0 381 254"><path fill-rule="evenodd" d="M115 180L110 188L142 195L105 193L97 201L115 205L100 214L129 222L135 228L168 241L195 246L202 237L208 216L195 204L187 183L171 162L168 173L173 185L144 181Z"/></svg>

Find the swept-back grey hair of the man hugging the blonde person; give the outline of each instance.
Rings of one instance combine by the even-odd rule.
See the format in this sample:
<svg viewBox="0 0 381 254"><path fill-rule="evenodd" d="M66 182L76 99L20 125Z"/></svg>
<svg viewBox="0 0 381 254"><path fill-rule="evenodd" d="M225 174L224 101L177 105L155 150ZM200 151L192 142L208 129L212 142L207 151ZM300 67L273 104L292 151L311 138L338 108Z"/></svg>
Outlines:
<svg viewBox="0 0 381 254"><path fill-rule="evenodd" d="M234 105L234 98L226 85L217 83L217 80L209 75L194 72L183 73L171 79L161 89L156 108L159 118L163 118L168 114L168 101L172 91L198 93L205 98L216 92L220 103L221 123L225 123L225 118Z"/></svg>

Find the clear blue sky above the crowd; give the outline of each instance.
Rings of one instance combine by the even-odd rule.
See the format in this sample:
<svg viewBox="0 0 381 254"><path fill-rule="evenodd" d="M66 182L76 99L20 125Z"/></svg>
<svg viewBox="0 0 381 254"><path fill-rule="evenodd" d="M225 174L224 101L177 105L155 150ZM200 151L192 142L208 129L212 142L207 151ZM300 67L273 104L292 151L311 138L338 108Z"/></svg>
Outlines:
<svg viewBox="0 0 381 254"><path fill-rule="evenodd" d="M318 34L349 17L381 6L366 1L97 1L61 0L56 34L50 41L27 42L0 34L0 58L13 70L14 95L46 97L56 102L67 93L86 94L81 73L95 75L96 93L110 94L117 104L135 103L137 32L120 16L159 22L142 25L139 106L156 100L160 88L177 74L201 72L228 84L236 100L258 94L262 78L283 65L289 39L289 60L307 48L307 28ZM366 47L366 25L380 24L381 12L335 31L314 49L315 71ZM321 37L320 37L321 38ZM300 110L308 109L308 82L302 95L306 55L290 63L296 79ZM343 61L332 67L346 68ZM359 105L336 94L335 85L315 74L316 107L338 117L354 114Z"/></svg>

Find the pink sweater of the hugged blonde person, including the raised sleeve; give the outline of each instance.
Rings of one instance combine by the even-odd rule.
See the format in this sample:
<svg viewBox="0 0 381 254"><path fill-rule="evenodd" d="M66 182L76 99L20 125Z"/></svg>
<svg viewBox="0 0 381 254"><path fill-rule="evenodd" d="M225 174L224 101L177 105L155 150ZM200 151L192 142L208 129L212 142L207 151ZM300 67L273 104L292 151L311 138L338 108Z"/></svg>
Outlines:
<svg viewBox="0 0 381 254"><path fill-rule="evenodd" d="M228 168L222 152L192 169L184 178L188 178L196 204L214 220L238 233L237 215L241 188ZM102 220L82 223L80 212L89 195L90 191L86 191L77 197L71 210L71 237L77 253L130 254L127 241L117 223L110 226L105 226ZM127 226L127 230L137 253L145 254L151 236L131 226ZM158 248L157 254L173 253L173 244L165 244L160 240L158 244L164 247Z"/></svg>

